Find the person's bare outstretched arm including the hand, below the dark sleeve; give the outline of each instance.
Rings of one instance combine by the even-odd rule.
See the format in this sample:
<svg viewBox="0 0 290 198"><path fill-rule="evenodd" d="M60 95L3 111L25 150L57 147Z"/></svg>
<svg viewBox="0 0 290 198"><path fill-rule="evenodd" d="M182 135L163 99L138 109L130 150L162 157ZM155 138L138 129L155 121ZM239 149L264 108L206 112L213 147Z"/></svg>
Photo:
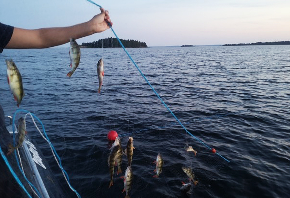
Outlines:
<svg viewBox="0 0 290 198"><path fill-rule="evenodd" d="M103 32L112 25L109 12L100 8L101 13L88 22L61 28L41 28L35 30L14 28L12 37L5 48L28 49L48 48L69 42L69 38L81 38Z"/></svg>

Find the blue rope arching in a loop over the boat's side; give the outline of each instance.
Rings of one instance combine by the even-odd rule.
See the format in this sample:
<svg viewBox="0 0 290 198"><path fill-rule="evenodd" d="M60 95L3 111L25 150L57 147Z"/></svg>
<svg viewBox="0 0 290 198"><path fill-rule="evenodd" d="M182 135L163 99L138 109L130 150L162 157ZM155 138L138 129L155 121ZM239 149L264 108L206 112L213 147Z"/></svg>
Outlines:
<svg viewBox="0 0 290 198"><path fill-rule="evenodd" d="M59 157L59 155L56 153L56 150L55 150L54 146L53 146L52 143L50 142L50 140L49 140L49 138L48 138L48 136L47 136L47 134L46 134L46 132L45 132L44 124L41 122L41 120L40 120L36 115L34 115L33 113L31 113L31 112L29 112L29 111L27 111L27 110L23 110L23 109L18 109L18 110L15 111L15 114L14 114L14 116L13 116L13 120L12 120L13 144L15 144L15 134L14 134L15 129L14 129L14 122L15 122L15 116L16 116L16 114L17 114L18 112L30 113L30 114L31 114L34 118L36 118L37 121L41 124L42 129L43 129L44 136L45 136L45 138L48 140L49 145L52 147L52 149L53 149L53 153L54 153L54 154L56 155L56 157L58 158L58 161L59 161L59 164L60 164L60 169L64 172L64 174L65 174L65 176L66 176L66 179L68 180L68 185L69 185L69 187L72 189L73 192L75 192L75 193L77 194L77 196L78 196L79 198L81 198L80 194L79 194L79 193L78 193L78 192L77 192L77 191L76 191L76 190L71 186L70 181L69 181L68 174L67 174L67 172L64 170L64 168L63 168L63 166L62 166L62 164L61 164L60 157ZM18 163L17 156L16 156L16 160L17 160L17 163ZM19 163L18 163L18 166L19 166ZM20 166L19 166L19 167L20 167ZM21 170L21 171L22 171L22 170ZM27 181L28 181L28 180L27 180ZM28 182L29 182L29 181L28 181Z"/></svg>

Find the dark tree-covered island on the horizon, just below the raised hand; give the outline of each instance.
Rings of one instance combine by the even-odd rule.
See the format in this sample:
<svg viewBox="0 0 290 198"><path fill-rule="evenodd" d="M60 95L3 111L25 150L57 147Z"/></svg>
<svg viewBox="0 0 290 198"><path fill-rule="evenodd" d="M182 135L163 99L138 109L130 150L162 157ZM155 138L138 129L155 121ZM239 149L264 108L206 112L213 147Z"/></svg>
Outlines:
<svg viewBox="0 0 290 198"><path fill-rule="evenodd" d="M132 47L147 47L145 42L135 41L135 40L124 40L120 39L124 47L132 48ZM93 41L90 43L82 43L81 46L87 48L119 48L122 47L117 38L105 38L100 39L98 41Z"/></svg>

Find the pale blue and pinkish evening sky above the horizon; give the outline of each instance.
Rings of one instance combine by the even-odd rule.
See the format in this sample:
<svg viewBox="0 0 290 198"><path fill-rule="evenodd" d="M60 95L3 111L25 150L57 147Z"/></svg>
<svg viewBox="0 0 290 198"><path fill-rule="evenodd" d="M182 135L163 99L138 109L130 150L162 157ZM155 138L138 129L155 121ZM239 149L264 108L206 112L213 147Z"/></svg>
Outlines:
<svg viewBox="0 0 290 198"><path fill-rule="evenodd" d="M122 39L148 46L290 40L289 0L94 0ZM86 0L1 0L0 22L36 29L82 23L100 12ZM111 30L78 39L114 37ZM61 47L68 47L68 44Z"/></svg>

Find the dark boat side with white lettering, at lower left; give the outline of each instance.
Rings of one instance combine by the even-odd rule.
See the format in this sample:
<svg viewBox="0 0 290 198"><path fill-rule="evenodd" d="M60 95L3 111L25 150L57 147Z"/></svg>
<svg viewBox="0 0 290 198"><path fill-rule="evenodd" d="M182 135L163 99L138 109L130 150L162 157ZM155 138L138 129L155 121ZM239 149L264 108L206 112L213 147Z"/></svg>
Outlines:
<svg viewBox="0 0 290 198"><path fill-rule="evenodd" d="M17 140L16 135L16 140ZM37 197L32 191L32 187L29 186L24 178L19 167L23 167L25 176L27 179L37 188L39 194L43 198L65 198L69 197L64 193L62 187L60 187L54 174L49 168L47 161L45 160L42 152L37 144L26 136L26 140L23 146L19 148L19 155L21 157L21 164L19 160L19 166L15 158L15 153L7 155L8 144L12 143L12 135L9 133L5 126L5 117L2 107L0 106L0 145L1 149L9 162L12 170L15 172L19 181L23 187L27 190L31 197ZM37 173L38 172L38 173ZM6 165L3 157L0 157L0 197L1 198L26 198L29 197L24 191L23 187L19 185L15 177Z"/></svg>

